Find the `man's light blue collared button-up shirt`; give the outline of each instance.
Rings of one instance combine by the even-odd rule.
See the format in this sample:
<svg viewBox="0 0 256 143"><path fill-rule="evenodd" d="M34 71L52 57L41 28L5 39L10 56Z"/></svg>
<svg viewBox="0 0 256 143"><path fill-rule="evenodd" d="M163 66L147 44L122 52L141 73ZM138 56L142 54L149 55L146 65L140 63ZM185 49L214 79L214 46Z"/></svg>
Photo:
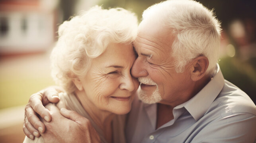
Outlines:
<svg viewBox="0 0 256 143"><path fill-rule="evenodd" d="M173 109L174 119L156 128L156 104L135 99L127 117L127 143L254 143L256 106L217 72L192 99Z"/></svg>

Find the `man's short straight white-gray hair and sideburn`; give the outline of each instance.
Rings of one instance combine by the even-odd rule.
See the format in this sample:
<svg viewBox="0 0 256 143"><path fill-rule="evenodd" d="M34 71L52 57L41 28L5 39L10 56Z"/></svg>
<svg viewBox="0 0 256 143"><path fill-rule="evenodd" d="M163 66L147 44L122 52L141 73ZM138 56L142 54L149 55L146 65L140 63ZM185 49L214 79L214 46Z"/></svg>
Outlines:
<svg viewBox="0 0 256 143"><path fill-rule="evenodd" d="M176 72L184 72L190 60L205 56L209 60L207 73L213 73L219 59L220 22L199 2L193 0L167 0L150 6L143 19L154 18L173 29L172 56Z"/></svg>

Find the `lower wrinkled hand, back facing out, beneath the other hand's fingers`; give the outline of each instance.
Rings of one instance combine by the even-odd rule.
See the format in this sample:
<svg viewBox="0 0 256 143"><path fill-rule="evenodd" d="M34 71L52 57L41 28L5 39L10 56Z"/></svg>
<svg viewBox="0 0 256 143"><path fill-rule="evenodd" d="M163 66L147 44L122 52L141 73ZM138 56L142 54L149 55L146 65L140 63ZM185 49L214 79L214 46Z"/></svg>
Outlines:
<svg viewBox="0 0 256 143"><path fill-rule="evenodd" d="M90 121L75 111L57 108L53 104L45 106L49 109L52 120L43 123L45 133L41 133L45 143L100 143L100 137ZM65 118L66 117L66 118Z"/></svg>

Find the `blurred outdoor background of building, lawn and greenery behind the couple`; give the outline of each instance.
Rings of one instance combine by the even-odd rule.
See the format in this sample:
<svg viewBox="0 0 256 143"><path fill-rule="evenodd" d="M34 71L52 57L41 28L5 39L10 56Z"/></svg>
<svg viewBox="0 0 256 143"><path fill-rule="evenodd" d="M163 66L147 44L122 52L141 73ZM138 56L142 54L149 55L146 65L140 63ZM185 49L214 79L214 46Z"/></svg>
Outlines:
<svg viewBox="0 0 256 143"><path fill-rule="evenodd" d="M49 54L58 25L98 4L138 15L161 0L0 0L0 142L22 142L24 106L37 91L55 83ZM222 23L219 65L256 102L256 10L254 0L197 0Z"/></svg>

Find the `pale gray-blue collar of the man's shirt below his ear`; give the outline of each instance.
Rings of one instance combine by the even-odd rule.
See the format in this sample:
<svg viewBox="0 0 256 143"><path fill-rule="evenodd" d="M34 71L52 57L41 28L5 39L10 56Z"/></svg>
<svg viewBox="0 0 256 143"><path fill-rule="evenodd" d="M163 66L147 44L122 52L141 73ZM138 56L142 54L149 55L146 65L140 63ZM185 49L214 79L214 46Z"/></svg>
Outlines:
<svg viewBox="0 0 256 143"><path fill-rule="evenodd" d="M219 68L216 66L216 73L211 81L199 91L192 99L188 100L184 107L190 112L195 121L199 120L208 110L211 103L219 95L224 86L224 77Z"/></svg>

